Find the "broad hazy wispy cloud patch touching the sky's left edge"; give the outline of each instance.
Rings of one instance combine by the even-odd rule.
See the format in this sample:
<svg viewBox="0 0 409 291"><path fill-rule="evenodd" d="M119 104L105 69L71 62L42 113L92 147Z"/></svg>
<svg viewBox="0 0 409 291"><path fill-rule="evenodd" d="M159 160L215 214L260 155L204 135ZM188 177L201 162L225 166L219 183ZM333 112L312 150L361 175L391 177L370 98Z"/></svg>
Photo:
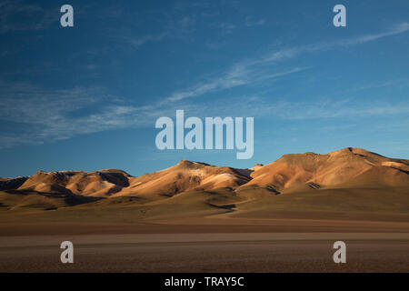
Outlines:
<svg viewBox="0 0 409 291"><path fill-rule="evenodd" d="M0 147L38 144L127 125L132 107L97 87L45 90L35 85L0 84ZM82 110L87 109L87 114ZM13 125L13 131L7 128ZM18 130L20 129L20 130Z"/></svg>

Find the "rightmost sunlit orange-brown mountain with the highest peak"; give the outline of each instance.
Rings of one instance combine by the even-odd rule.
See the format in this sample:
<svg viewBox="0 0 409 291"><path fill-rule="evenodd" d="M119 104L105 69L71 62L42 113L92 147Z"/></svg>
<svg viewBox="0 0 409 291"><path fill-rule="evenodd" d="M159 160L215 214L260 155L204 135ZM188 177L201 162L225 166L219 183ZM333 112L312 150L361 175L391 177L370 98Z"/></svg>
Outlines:
<svg viewBox="0 0 409 291"><path fill-rule="evenodd" d="M408 160L347 147L324 155L284 155L254 171L245 186L272 187L277 191L300 186L407 186L408 173Z"/></svg>

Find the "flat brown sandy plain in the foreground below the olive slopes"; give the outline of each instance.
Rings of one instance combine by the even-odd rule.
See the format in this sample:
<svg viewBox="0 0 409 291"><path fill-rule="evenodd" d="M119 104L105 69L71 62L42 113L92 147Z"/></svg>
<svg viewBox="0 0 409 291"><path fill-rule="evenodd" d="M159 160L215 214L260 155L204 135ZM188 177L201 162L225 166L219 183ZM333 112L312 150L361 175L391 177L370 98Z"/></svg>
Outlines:
<svg viewBox="0 0 409 291"><path fill-rule="evenodd" d="M37 226L38 235L22 232L23 226L15 233L2 226L0 272L409 272L407 223L312 220L303 227L293 221L291 227L287 220L283 231L280 221L269 221L243 220L235 226L217 219L207 226L156 222L99 230L60 226L56 235L46 226ZM74 243L74 264L60 262L65 240ZM346 264L334 264L337 240L346 243Z"/></svg>

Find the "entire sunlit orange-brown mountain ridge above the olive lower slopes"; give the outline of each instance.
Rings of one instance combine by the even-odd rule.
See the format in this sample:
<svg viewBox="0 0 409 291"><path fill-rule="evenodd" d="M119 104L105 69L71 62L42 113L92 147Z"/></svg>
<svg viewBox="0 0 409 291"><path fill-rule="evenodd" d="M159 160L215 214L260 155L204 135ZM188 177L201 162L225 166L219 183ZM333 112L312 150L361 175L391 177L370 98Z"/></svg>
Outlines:
<svg viewBox="0 0 409 291"><path fill-rule="evenodd" d="M327 154L285 154L268 165L244 169L181 160L175 166L142 176L131 176L119 169L40 170L33 176L0 179L0 206L7 206L10 200L19 203L34 199L35 195L35 201L60 197L65 202L58 200L57 206L65 206L66 201L71 206L121 197L157 201L195 192L227 193L245 200L294 191L395 186L409 186L409 160L346 147ZM25 198L18 200L15 195ZM32 203L30 200L27 206Z"/></svg>

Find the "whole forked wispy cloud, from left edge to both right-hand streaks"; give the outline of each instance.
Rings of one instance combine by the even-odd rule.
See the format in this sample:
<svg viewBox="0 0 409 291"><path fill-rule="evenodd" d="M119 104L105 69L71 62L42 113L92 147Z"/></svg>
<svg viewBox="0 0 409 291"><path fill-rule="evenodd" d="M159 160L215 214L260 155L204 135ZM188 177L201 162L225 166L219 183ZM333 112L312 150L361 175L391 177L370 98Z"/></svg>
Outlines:
<svg viewBox="0 0 409 291"><path fill-rule="evenodd" d="M388 32L362 35L339 42L361 45L389 35L409 31L408 24L394 26ZM162 115L175 115L184 108L189 115L252 115L285 120L336 118L344 116L409 115L409 104L356 104L348 101L327 102L274 101L262 97L234 98L197 103L195 97L226 89L253 85L302 72L307 67L277 66L306 52L332 49L334 43L306 45L275 51L258 58L244 60L223 70L219 75L195 85L176 90L149 105L134 105L110 95L101 87L45 89L29 83L0 82L0 147L39 144L75 135L105 130L152 126ZM252 99L251 99L252 98ZM255 98L255 99L254 99ZM277 98L275 98L277 100ZM252 102L249 106L248 103ZM225 104L229 104L225 106ZM9 126L10 125L10 126ZM12 128L12 129L10 129ZM15 130L16 129L16 130Z"/></svg>

